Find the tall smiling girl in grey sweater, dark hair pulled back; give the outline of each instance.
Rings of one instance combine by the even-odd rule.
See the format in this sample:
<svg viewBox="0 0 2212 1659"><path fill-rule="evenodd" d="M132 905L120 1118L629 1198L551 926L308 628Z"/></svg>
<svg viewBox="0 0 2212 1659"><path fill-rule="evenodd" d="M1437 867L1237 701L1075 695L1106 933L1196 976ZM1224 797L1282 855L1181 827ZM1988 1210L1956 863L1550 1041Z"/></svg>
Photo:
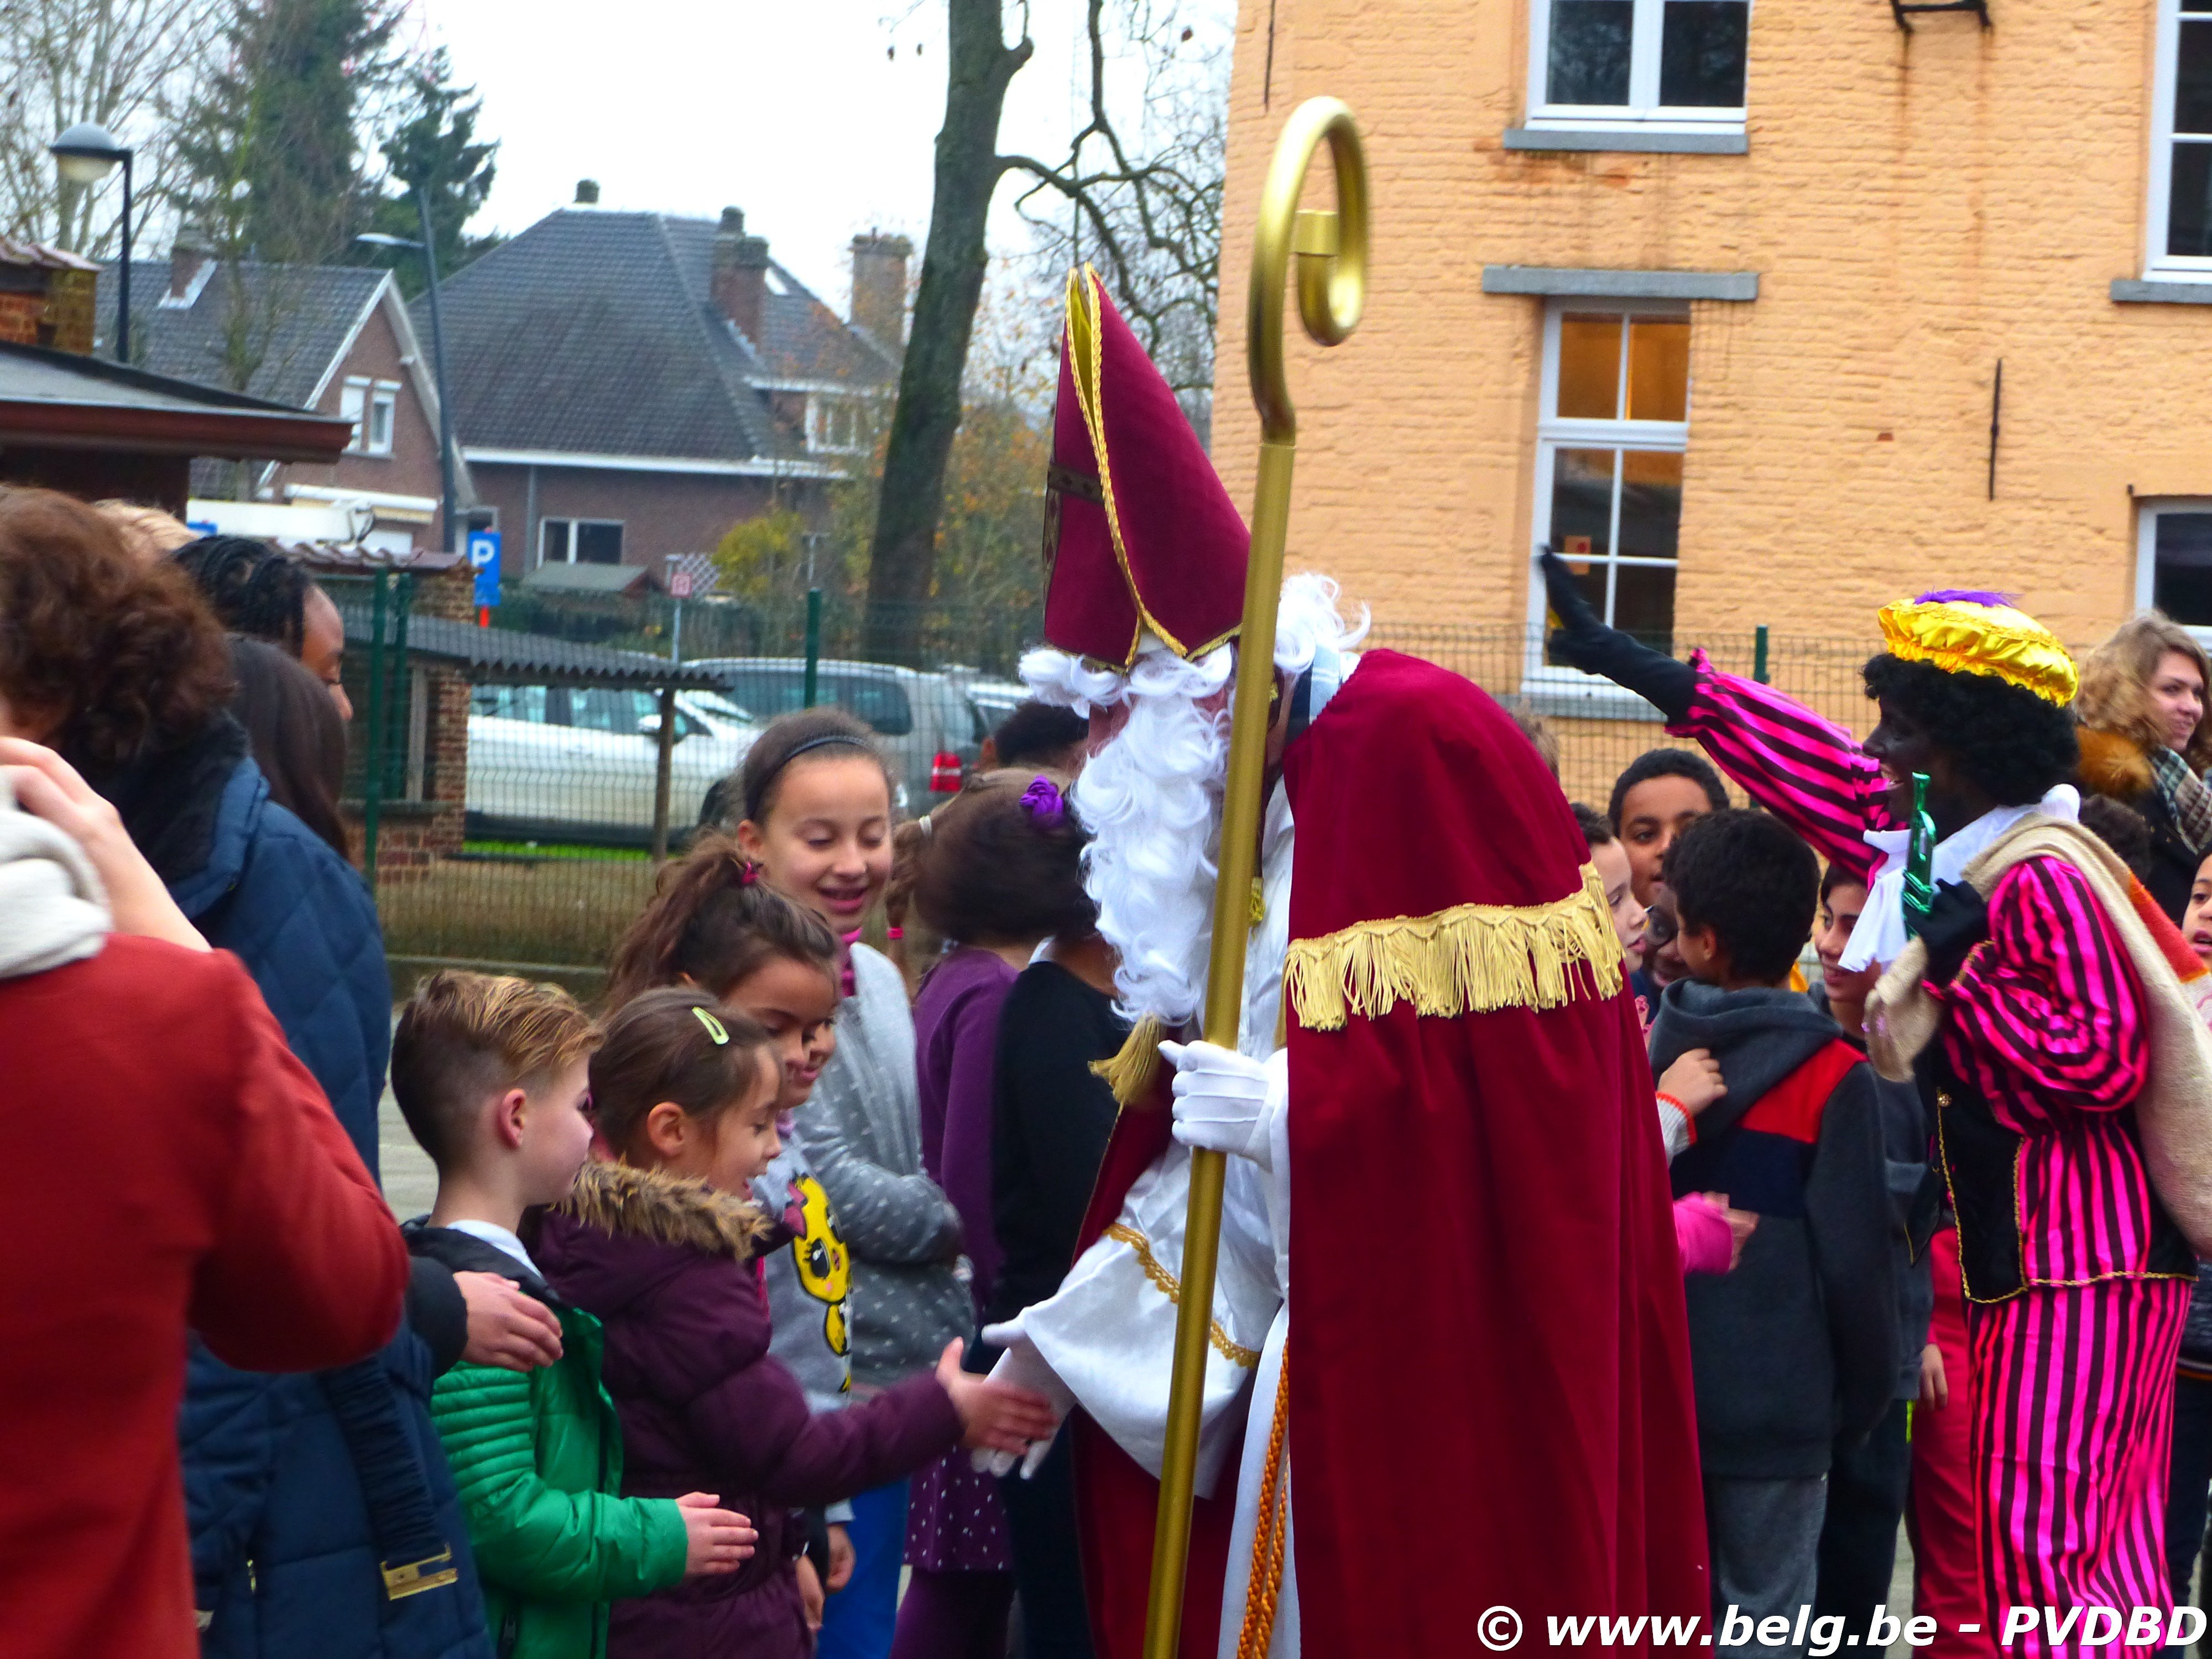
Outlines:
<svg viewBox="0 0 2212 1659"><path fill-rule="evenodd" d="M960 1212L922 1170L914 1009L885 956L858 942L891 876L891 774L867 726L810 708L768 726L739 774L737 843L770 887L845 940L836 1053L796 1137L852 1248L852 1376L878 1389L973 1336ZM854 1575L823 1621L823 1659L885 1659L907 1544L905 1482L863 1493Z"/></svg>

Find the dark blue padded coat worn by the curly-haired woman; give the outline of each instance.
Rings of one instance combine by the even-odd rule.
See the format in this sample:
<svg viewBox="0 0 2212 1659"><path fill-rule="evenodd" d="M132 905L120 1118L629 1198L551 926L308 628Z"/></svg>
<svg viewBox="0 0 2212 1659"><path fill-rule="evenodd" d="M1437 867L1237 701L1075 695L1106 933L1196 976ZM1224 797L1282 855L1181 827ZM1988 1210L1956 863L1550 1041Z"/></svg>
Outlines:
<svg viewBox="0 0 2212 1659"><path fill-rule="evenodd" d="M228 719L100 787L179 909L252 973L374 1172L392 980L361 876L270 801ZM425 1296L458 1314L449 1276ZM210 1659L491 1659L460 1502L429 1418L458 1327L438 1321L438 1347L449 1352L434 1354L422 1327L436 1310L425 1296L409 1296L409 1325L380 1356L396 1405L385 1444L400 1473L420 1480L458 1582L396 1601L383 1595L354 1451L332 1409L336 1374L234 1371L195 1343L179 1440Z"/></svg>

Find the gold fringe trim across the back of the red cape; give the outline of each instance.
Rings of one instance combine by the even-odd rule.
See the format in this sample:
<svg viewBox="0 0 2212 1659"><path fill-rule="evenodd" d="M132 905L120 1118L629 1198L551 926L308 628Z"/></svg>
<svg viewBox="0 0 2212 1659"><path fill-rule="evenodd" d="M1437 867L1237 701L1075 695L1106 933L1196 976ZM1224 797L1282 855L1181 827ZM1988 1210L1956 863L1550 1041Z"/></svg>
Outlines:
<svg viewBox="0 0 2212 1659"><path fill-rule="evenodd" d="M1621 942L1606 883L1582 867L1582 891L1548 905L1453 905L1433 916L1354 922L1292 940L1283 995L1307 1031L1343 1031L1400 1002L1449 1020L1493 1009L1559 1009L1621 989Z"/></svg>

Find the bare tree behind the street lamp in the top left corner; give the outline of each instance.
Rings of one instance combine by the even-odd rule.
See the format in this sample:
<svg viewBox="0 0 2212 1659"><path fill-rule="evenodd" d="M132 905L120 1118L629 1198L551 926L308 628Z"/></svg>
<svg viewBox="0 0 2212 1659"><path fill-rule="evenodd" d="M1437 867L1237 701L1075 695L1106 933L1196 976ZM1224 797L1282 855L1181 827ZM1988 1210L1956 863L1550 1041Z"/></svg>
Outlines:
<svg viewBox="0 0 2212 1659"><path fill-rule="evenodd" d="M77 122L135 146L133 208L159 212L175 170L170 122L215 35L215 0L0 4L0 228L91 259L113 252L122 179L64 186L46 155Z"/></svg>

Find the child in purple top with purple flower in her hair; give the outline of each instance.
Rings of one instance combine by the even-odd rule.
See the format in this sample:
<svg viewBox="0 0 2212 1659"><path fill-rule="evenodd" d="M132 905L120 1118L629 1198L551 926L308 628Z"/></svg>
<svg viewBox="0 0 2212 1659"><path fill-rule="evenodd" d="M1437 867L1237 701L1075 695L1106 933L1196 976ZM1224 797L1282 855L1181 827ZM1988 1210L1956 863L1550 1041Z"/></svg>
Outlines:
<svg viewBox="0 0 2212 1659"><path fill-rule="evenodd" d="M1084 891L1084 832L1060 783L991 772L931 814L916 860L914 905L947 940L914 1006L920 1053L922 1166L953 1203L975 1263L982 1310L998 1285L991 1214L993 1091L1000 1011L1046 940L1097 927ZM984 1358L984 1367L989 1367ZM907 1520L914 1577L898 1608L891 1659L995 1659L1006 1652L1013 1540L998 1482L947 1458L914 1482Z"/></svg>

